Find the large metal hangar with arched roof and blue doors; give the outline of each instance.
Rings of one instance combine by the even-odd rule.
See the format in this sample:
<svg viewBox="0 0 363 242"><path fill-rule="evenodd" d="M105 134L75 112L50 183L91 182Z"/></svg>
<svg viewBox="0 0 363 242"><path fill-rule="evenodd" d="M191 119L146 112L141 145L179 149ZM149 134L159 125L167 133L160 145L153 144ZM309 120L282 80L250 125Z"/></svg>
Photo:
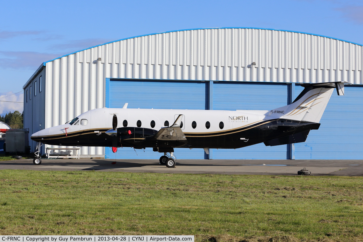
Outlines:
<svg viewBox="0 0 363 242"><path fill-rule="evenodd" d="M348 81L346 95L332 95L319 130L304 143L211 149L209 155L179 148L175 154L179 159L361 159L362 55L360 44L275 29L188 29L117 40L42 63L23 86L24 127L33 134L88 110L125 103L269 110L290 104L302 83ZM29 143L34 151L36 143ZM159 156L151 149L81 148L81 157Z"/></svg>

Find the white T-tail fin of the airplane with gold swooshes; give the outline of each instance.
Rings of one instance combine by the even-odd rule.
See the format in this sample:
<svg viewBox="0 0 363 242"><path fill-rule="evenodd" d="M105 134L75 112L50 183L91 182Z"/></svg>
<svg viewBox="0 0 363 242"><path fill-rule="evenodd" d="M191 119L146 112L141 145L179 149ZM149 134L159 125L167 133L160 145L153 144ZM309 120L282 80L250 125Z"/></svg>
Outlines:
<svg viewBox="0 0 363 242"><path fill-rule="evenodd" d="M280 114L280 118L319 123L333 89L344 95L343 82L314 83L302 85L305 89L293 103L270 111L269 116ZM282 114L282 116L281 116Z"/></svg>

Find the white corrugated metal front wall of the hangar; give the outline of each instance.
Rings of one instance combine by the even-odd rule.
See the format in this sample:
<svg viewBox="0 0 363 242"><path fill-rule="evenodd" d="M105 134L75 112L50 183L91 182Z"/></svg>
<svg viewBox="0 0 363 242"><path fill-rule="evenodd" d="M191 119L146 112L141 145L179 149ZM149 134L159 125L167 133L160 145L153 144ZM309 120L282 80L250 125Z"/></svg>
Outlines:
<svg viewBox="0 0 363 242"><path fill-rule="evenodd" d="M217 28L95 46L46 62L45 126L105 106L105 78L363 84L362 46L306 33ZM256 65L252 65L255 62ZM81 154L103 154L82 148Z"/></svg>

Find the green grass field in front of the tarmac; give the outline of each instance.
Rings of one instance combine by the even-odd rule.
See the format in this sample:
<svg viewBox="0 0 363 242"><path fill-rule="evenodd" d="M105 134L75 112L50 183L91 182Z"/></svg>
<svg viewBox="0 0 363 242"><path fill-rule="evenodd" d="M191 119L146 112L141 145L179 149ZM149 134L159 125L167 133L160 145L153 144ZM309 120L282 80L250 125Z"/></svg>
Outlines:
<svg viewBox="0 0 363 242"><path fill-rule="evenodd" d="M0 234L362 241L363 179L0 170Z"/></svg>

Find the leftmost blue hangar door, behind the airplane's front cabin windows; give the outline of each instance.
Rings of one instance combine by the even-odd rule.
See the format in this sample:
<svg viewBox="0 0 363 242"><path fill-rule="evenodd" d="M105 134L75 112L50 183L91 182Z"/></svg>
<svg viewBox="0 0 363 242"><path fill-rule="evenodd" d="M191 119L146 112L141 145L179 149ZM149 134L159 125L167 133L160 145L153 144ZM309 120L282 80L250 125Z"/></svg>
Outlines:
<svg viewBox="0 0 363 242"><path fill-rule="evenodd" d="M106 79L106 107L208 109L208 82ZM120 121L118 121L120 123ZM135 125L136 126L136 125ZM203 149L174 149L178 159L204 159ZM152 148L118 148L113 153L105 147L106 159L159 159L162 153Z"/></svg>

